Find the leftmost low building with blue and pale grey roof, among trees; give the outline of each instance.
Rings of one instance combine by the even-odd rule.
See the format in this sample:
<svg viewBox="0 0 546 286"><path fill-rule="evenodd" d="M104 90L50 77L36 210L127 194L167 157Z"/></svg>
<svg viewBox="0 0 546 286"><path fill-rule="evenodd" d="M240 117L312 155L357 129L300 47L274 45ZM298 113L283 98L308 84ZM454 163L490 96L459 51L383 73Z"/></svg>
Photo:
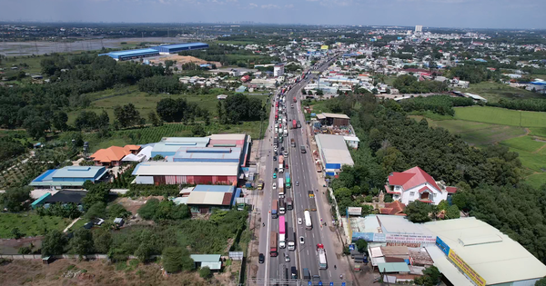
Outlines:
<svg viewBox="0 0 546 286"><path fill-rule="evenodd" d="M81 189L84 182L97 182L106 178L106 168L98 166L67 166L47 170L37 176L29 185L42 189Z"/></svg>

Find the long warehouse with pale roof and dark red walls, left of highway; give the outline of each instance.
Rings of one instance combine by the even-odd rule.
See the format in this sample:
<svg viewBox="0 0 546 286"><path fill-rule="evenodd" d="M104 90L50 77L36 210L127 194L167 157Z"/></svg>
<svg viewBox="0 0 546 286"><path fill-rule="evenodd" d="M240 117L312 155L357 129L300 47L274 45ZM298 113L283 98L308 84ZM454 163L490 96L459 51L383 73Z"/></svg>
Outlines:
<svg viewBox="0 0 546 286"><path fill-rule="evenodd" d="M239 163L146 162L137 164L132 174L142 184L236 184Z"/></svg>

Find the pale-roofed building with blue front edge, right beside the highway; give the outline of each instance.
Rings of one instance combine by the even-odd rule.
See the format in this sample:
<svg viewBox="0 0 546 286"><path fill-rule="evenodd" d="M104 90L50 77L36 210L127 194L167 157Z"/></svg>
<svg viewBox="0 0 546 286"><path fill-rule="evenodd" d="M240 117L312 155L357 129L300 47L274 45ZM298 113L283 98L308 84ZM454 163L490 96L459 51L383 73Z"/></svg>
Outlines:
<svg viewBox="0 0 546 286"><path fill-rule="evenodd" d="M343 136L317 134L315 140L327 175L335 176L339 174L343 165L354 165Z"/></svg>

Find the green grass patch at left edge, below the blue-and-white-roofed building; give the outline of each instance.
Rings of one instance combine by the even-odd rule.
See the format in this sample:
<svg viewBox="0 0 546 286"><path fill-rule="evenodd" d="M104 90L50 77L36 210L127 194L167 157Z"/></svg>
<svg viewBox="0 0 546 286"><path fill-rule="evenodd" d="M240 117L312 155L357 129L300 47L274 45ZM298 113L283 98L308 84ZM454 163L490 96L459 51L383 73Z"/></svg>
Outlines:
<svg viewBox="0 0 546 286"><path fill-rule="evenodd" d="M24 236L41 235L47 230L63 231L71 222L56 216L41 217L37 214L25 213L2 213L0 214L0 238L13 238L12 230L17 227Z"/></svg>

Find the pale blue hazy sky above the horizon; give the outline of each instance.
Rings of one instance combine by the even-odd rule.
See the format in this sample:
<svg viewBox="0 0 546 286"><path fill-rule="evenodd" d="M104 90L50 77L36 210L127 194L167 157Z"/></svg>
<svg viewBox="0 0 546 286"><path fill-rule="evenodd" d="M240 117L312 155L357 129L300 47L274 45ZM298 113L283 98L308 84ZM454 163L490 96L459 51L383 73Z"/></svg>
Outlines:
<svg viewBox="0 0 546 286"><path fill-rule="evenodd" d="M5 0L0 20L546 28L546 0Z"/></svg>

